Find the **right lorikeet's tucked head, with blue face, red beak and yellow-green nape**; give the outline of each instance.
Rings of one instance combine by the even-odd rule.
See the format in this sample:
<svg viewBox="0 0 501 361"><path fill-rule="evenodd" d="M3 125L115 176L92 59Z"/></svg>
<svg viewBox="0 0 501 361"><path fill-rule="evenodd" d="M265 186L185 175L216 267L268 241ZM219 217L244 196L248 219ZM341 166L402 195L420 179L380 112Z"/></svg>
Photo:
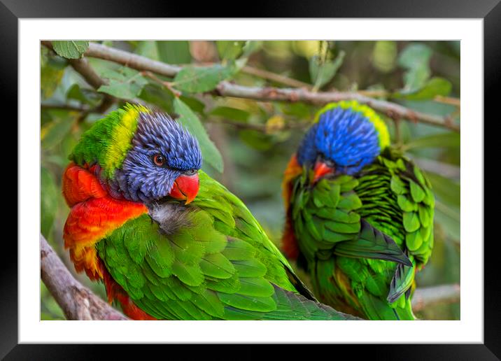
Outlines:
<svg viewBox="0 0 501 361"><path fill-rule="evenodd" d="M355 101L329 104L316 120L297 151L297 162L313 168L315 180L333 173L354 175L388 146L383 120Z"/></svg>

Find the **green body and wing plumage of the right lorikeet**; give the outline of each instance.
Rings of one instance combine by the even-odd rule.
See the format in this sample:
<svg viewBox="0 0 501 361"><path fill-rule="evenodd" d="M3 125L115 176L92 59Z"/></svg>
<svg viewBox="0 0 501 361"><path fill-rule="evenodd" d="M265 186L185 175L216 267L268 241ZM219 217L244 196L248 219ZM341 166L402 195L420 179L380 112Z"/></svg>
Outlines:
<svg viewBox="0 0 501 361"><path fill-rule="evenodd" d="M374 320L412 320L414 272L433 247L430 183L392 148L357 176L292 183L290 217L320 302ZM404 295L405 294L405 295Z"/></svg>

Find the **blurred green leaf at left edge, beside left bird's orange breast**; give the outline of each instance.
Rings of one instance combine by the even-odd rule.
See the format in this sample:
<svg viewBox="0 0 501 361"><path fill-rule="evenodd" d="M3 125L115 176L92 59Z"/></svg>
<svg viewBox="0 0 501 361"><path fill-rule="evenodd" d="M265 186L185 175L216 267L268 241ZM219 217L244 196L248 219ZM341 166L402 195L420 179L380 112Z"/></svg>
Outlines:
<svg viewBox="0 0 501 361"><path fill-rule="evenodd" d="M57 188L54 177L45 167L41 167L40 177L40 230L43 236L48 238L57 211L57 195L59 189Z"/></svg>

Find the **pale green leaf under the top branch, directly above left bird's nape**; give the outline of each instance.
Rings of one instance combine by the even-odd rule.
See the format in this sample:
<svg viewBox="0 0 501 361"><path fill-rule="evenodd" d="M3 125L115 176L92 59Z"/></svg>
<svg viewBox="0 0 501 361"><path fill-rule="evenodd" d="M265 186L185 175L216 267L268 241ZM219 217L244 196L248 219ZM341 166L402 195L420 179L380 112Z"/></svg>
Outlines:
<svg viewBox="0 0 501 361"><path fill-rule="evenodd" d="M120 68L118 71L109 70L101 74L108 79L108 85L101 85L98 92L107 93L120 99L132 99L141 93L148 80L141 76L139 71L130 68Z"/></svg>

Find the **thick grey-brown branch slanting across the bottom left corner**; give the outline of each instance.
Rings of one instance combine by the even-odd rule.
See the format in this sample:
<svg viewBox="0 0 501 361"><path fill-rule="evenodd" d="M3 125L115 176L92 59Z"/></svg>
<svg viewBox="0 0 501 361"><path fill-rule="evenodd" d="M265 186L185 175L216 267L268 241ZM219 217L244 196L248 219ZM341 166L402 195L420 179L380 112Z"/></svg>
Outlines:
<svg viewBox="0 0 501 361"><path fill-rule="evenodd" d="M68 320L127 320L122 313L76 281L42 235L40 260L42 281Z"/></svg>

